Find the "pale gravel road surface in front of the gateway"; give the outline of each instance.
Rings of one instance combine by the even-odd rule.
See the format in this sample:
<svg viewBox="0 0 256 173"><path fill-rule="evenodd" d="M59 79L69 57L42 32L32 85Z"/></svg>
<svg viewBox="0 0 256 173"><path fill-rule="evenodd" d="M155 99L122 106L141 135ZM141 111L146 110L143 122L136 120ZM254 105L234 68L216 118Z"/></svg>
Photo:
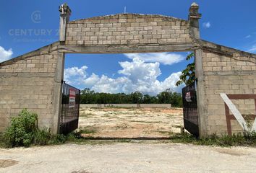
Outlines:
<svg viewBox="0 0 256 173"><path fill-rule="evenodd" d="M64 144L0 149L0 172L255 172L256 148L180 143Z"/></svg>

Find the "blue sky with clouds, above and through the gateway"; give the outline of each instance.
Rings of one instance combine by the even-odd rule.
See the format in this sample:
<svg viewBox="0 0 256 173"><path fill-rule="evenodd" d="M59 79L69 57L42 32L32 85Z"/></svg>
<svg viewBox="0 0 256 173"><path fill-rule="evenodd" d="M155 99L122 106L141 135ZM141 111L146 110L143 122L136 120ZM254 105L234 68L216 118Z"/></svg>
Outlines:
<svg viewBox="0 0 256 173"><path fill-rule="evenodd" d="M67 2L72 9L70 19L74 20L122 13L124 6L128 13L163 14L187 19L188 9L193 1L1 1L0 61L20 56L57 41L58 6L64 2ZM256 53L256 1L195 2L200 5L200 13L202 13L200 35L203 40ZM172 83L176 80L179 71L187 65L184 61L186 55L187 53L136 55L139 60L135 61L133 60L135 56L131 58L123 54L68 54L65 61L66 79L80 89L91 87L98 92L135 92L139 89L144 93L155 94L165 87L179 92L181 87L175 88ZM148 61L145 56L156 60ZM157 61L159 56L176 56L179 61L159 62ZM127 71L131 66L132 70ZM142 82L136 83L135 81L139 79L132 78L140 76L137 70L140 66L143 67L140 68L140 74L144 74L143 70L147 70L151 71L151 74L145 74L145 76L152 77L152 73L155 76L150 81L145 80L144 77L141 79Z"/></svg>

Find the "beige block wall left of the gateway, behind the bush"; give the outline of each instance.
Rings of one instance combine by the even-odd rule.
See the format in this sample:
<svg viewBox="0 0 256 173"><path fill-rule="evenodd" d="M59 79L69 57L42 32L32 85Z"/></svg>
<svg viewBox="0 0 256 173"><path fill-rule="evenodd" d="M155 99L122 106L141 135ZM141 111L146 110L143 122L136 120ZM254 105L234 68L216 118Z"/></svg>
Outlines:
<svg viewBox="0 0 256 173"><path fill-rule="evenodd" d="M40 127L53 129L56 44L0 63L0 131L23 108L38 114Z"/></svg>

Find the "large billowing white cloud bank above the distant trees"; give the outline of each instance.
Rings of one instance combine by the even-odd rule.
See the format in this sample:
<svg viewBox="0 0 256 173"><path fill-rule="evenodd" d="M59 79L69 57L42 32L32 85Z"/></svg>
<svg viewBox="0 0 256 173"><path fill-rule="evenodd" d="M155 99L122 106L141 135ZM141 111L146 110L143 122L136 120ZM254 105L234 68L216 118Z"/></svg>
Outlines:
<svg viewBox="0 0 256 173"><path fill-rule="evenodd" d="M122 69L119 72L122 76L116 79L106 75L98 76L92 74L87 78L87 66L82 68L72 67L65 70L65 79L72 81L72 84L81 84L89 87L95 92L142 92L144 94L158 94L170 88L173 91L180 91L182 86L175 86L181 72L173 73L163 81L158 81L161 75L159 63L145 63L140 58L133 58L132 62L119 62ZM80 71L80 73L78 73ZM81 72L82 71L82 72ZM72 79L72 80L71 80Z"/></svg>

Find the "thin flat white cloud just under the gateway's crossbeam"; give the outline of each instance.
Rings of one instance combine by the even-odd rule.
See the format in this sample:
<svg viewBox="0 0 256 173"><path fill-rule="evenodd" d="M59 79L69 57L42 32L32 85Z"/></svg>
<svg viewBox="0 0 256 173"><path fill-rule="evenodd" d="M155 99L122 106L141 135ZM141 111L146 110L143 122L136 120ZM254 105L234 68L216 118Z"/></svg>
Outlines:
<svg viewBox="0 0 256 173"><path fill-rule="evenodd" d="M158 62L165 65L179 63L185 59L184 56L178 53L125 53L124 56L130 59L139 58L145 62Z"/></svg>

